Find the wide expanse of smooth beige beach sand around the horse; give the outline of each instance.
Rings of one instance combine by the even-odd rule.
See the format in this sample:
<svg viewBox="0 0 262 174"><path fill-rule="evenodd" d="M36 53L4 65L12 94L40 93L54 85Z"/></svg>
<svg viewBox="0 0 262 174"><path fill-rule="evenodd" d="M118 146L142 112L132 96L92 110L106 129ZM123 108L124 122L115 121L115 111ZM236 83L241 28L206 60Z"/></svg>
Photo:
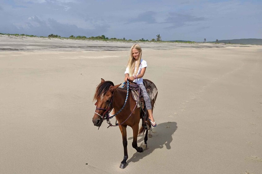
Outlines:
<svg viewBox="0 0 262 174"><path fill-rule="evenodd" d="M0 173L261 173L262 46L211 43L140 43L158 125L143 153L127 128L120 169L92 97L123 82L132 44L0 35Z"/></svg>

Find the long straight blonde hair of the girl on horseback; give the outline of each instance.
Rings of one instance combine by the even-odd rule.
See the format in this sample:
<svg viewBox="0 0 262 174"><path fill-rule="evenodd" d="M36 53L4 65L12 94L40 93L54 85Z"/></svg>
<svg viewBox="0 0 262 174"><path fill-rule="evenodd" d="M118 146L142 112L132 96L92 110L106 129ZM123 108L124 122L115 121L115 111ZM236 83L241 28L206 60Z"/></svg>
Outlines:
<svg viewBox="0 0 262 174"><path fill-rule="evenodd" d="M140 56L137 60L135 60L135 58L133 58L133 55L132 55L133 48L135 48L136 50L138 50L140 52ZM141 57L142 57L142 49L141 49L140 45L134 44L130 49L130 56L129 56L128 63L127 63L127 67L129 68L129 76L136 75L138 73ZM136 61L138 61L138 63L135 63ZM135 69L136 69L136 71L135 71Z"/></svg>

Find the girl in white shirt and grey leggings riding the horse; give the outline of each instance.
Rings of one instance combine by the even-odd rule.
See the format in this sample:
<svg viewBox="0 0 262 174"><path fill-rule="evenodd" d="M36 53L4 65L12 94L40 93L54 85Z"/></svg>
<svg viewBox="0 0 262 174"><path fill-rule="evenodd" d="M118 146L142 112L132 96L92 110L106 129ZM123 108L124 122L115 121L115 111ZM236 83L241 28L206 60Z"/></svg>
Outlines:
<svg viewBox="0 0 262 174"><path fill-rule="evenodd" d="M151 122L151 125L153 127L156 127L157 123L153 118L152 106L146 88L144 87L143 78L142 78L145 74L147 63L145 60L141 59L141 56L142 56L142 49L140 45L138 44L133 45L130 50L127 69L125 71L125 82L127 82L127 80L130 80L139 84L140 88L143 91L144 100L149 115L149 121Z"/></svg>

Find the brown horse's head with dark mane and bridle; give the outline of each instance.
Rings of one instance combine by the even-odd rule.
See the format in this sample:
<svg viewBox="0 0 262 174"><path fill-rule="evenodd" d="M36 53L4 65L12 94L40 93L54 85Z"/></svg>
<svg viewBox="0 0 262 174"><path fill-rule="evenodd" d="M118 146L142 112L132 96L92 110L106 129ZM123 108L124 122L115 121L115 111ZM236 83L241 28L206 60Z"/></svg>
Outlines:
<svg viewBox="0 0 262 174"><path fill-rule="evenodd" d="M104 119L106 119L106 113L113 108L113 94L120 85L114 86L113 82L104 79L101 79L101 83L97 85L93 99L93 101L97 100L95 104L97 108L92 119L95 126L100 127Z"/></svg>

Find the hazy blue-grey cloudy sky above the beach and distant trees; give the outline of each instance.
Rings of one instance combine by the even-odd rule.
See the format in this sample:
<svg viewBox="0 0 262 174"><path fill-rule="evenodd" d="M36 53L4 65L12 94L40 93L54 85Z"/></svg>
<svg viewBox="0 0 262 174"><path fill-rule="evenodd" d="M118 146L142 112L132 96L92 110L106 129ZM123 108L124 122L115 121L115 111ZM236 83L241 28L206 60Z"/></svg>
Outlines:
<svg viewBox="0 0 262 174"><path fill-rule="evenodd" d="M0 0L0 33L151 40L262 38L262 0Z"/></svg>

